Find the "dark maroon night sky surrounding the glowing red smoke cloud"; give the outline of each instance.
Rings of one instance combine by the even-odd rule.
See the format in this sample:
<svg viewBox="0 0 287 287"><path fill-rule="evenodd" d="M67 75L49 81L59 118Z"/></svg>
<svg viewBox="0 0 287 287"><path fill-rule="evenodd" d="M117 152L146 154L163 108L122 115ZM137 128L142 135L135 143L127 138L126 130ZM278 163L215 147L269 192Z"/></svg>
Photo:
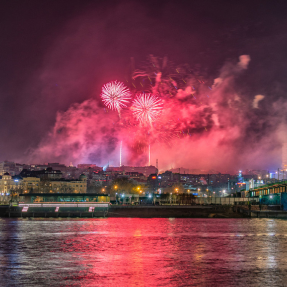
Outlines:
<svg viewBox="0 0 287 287"><path fill-rule="evenodd" d="M57 141L52 133L58 111L89 99L103 107L102 85L115 79L124 82L131 58L137 67L150 54L188 63L211 87L241 55L249 55L248 68L235 74L232 88L225 89L226 99L227 90L240 95L239 130L244 125L241 136L230 143L233 160L226 170L277 168L281 142L287 141L286 12L283 1L2 1L0 158L104 165L108 159L97 161L98 154L75 156L77 145L70 157L54 155L57 145L50 143ZM264 98L252 108L256 95ZM45 142L49 148L35 155ZM205 154L202 151L201 156ZM198 162L192 157L192 164L159 158L163 168L172 161L176 167L195 168ZM212 161L198 166L225 170L224 162L212 165Z"/></svg>

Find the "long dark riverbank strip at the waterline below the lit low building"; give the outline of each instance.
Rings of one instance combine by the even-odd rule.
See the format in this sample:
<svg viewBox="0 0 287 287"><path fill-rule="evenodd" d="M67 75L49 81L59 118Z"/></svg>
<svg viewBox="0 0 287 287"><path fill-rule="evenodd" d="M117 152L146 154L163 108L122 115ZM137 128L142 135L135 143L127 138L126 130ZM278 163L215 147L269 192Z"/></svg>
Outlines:
<svg viewBox="0 0 287 287"><path fill-rule="evenodd" d="M0 207L0 217L16 218L243 218L245 214L237 212L233 206L229 205L110 205L108 209L89 208L63 208L56 212L45 207L29 207L23 211L21 206L2 205Z"/></svg>

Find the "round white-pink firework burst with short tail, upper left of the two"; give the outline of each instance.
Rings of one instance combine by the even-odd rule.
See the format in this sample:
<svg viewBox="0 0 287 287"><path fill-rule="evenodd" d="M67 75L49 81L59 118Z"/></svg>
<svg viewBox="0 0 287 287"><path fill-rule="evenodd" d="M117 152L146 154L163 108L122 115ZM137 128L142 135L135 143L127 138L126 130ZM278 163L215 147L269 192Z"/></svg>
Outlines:
<svg viewBox="0 0 287 287"><path fill-rule="evenodd" d="M120 111L123 107L126 107L130 96L130 91L121 82L112 81L102 88L101 98L103 99L104 104L112 110L117 110L119 117Z"/></svg>

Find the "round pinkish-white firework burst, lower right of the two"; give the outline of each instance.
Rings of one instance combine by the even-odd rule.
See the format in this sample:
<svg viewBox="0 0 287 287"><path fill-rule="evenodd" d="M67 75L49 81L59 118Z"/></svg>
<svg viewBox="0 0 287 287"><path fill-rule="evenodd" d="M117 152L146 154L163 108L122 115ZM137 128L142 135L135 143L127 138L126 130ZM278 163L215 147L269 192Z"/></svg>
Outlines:
<svg viewBox="0 0 287 287"><path fill-rule="evenodd" d="M161 100L152 94L139 94L133 101L132 115L143 125L151 125L162 112Z"/></svg>

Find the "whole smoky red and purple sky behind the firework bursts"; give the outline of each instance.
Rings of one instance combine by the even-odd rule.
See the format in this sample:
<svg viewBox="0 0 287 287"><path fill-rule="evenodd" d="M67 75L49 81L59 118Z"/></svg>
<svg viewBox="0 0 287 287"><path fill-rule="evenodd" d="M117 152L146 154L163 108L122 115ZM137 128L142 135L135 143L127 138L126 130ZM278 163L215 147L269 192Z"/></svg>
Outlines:
<svg viewBox="0 0 287 287"><path fill-rule="evenodd" d="M146 165L150 142L152 164L159 159L161 170L276 169L287 141L287 23L276 4L249 4L6 5L2 159L117 166L122 141L122 163ZM170 70L188 64L200 83L175 79L160 123L149 130L132 122L129 107L120 122L100 93L112 80L132 90L131 73L148 68L150 54L167 56L175 63ZM157 77L164 79L162 72Z"/></svg>

